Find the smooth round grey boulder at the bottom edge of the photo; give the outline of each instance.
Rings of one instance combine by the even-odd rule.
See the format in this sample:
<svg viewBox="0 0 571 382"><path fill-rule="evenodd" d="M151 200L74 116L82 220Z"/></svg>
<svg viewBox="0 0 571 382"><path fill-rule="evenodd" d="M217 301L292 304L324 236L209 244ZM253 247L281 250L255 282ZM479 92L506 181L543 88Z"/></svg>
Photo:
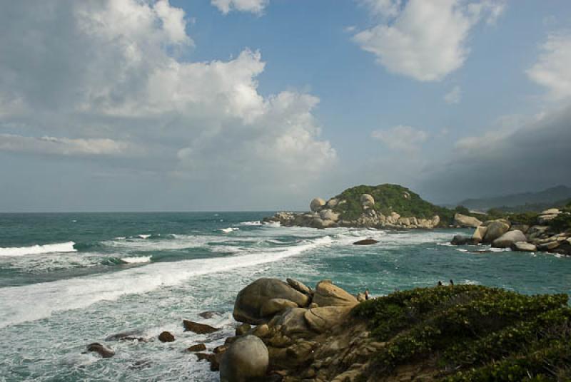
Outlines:
<svg viewBox="0 0 571 382"><path fill-rule="evenodd" d="M268 348L256 336L243 336L231 344L220 363L221 382L249 382L266 376Z"/></svg>

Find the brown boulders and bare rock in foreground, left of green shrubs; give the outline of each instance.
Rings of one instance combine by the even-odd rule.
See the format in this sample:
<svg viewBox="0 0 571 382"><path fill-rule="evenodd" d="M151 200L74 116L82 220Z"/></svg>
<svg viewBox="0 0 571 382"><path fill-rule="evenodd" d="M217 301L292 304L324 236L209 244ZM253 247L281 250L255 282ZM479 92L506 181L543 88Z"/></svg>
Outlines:
<svg viewBox="0 0 571 382"><path fill-rule="evenodd" d="M294 279L256 280L236 297L233 315L243 324L218 349L221 381L353 381L383 346L364 325L348 325L364 299L330 280L315 289Z"/></svg>

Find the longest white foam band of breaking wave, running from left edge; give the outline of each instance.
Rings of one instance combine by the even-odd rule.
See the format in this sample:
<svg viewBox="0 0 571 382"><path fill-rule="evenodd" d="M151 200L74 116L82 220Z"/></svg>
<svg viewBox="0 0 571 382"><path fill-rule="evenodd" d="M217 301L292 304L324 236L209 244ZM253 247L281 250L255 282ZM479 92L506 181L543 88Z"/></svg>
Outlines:
<svg viewBox="0 0 571 382"><path fill-rule="evenodd" d="M320 237L276 252L258 252L236 257L158 262L145 267L90 277L63 279L0 289L0 328L51 316L56 311L81 309L98 301L116 300L126 294L143 294L160 287L172 287L191 277L227 272L276 262L328 245L332 239ZM31 307L34 309L31 309Z"/></svg>

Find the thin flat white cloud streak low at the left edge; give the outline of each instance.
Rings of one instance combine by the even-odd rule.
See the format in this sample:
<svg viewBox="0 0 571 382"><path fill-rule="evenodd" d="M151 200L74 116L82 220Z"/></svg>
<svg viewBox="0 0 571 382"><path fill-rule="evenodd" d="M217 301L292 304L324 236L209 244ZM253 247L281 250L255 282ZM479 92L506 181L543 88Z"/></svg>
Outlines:
<svg viewBox="0 0 571 382"><path fill-rule="evenodd" d="M0 150L22 153L65 155L65 156L114 156L128 157L143 155L143 150L126 142L108 138L69 139L54 137L24 137L0 134Z"/></svg>

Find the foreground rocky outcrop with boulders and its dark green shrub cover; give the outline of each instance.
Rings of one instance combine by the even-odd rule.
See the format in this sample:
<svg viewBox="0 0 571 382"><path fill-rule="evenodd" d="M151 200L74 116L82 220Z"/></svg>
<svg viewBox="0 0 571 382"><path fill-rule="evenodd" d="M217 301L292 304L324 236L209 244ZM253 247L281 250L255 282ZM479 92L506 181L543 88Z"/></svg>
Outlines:
<svg viewBox="0 0 571 382"><path fill-rule="evenodd" d="M567 295L475 285L364 301L329 280L315 289L258 279L236 298L244 324L211 354L221 381L567 381ZM256 325L256 326L251 326Z"/></svg>

